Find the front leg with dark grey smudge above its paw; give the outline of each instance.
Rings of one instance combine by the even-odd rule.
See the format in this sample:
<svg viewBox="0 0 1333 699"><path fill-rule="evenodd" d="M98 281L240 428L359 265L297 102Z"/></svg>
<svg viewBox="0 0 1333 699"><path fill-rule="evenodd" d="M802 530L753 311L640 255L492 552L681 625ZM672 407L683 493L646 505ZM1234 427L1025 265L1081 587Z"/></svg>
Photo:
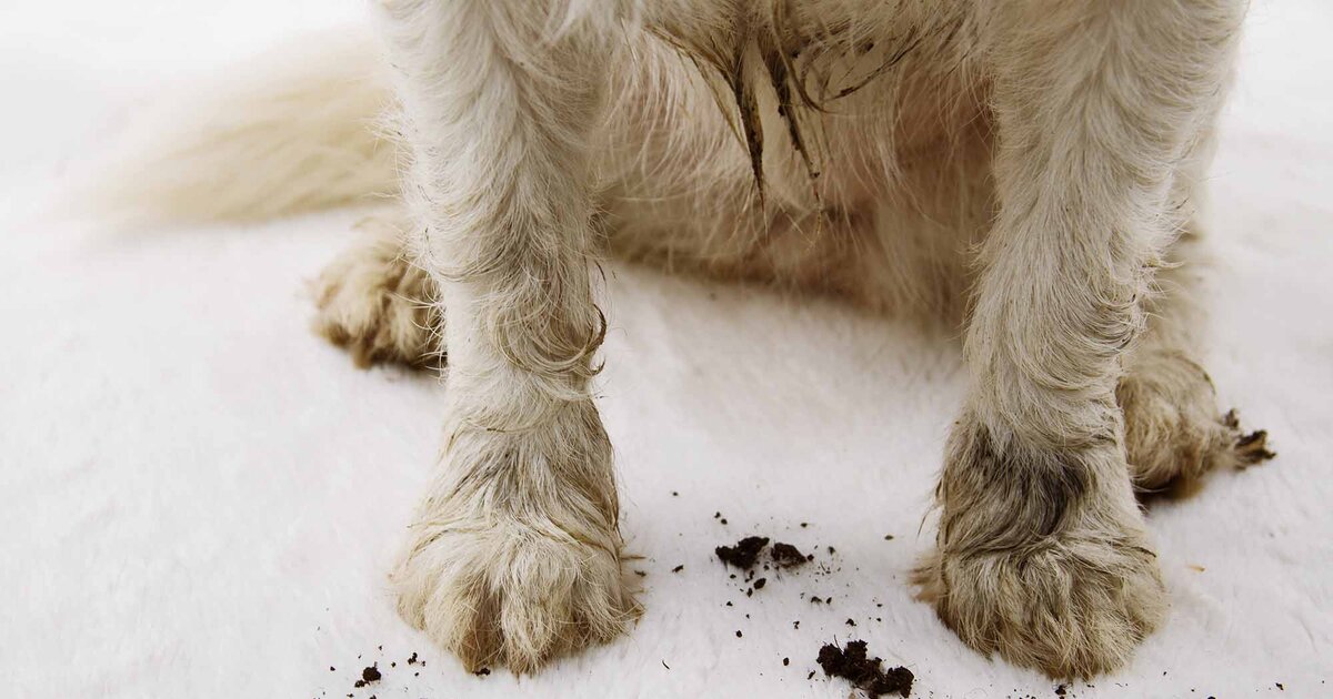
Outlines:
<svg viewBox="0 0 1333 699"><path fill-rule="evenodd" d="M1114 390L1240 5L982 11L1000 216L981 250L937 551L918 582L985 654L1090 676L1124 664L1165 614Z"/></svg>

